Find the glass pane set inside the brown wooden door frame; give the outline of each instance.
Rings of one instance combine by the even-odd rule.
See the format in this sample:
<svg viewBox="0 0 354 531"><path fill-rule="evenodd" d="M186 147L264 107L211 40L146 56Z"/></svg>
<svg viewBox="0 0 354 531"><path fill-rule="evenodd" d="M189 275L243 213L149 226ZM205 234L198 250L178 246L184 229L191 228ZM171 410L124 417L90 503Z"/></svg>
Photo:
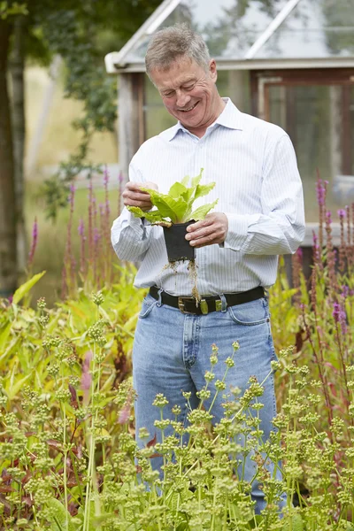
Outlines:
<svg viewBox="0 0 354 531"><path fill-rule="evenodd" d="M349 89L349 100L345 90L348 87L329 85L269 87L270 121L289 133L296 149L307 222L318 221L318 171L328 181L327 206L334 219L338 209L354 201L353 154L345 154L342 142L343 135L354 139L354 88ZM344 164L350 164L351 176L342 176Z"/></svg>

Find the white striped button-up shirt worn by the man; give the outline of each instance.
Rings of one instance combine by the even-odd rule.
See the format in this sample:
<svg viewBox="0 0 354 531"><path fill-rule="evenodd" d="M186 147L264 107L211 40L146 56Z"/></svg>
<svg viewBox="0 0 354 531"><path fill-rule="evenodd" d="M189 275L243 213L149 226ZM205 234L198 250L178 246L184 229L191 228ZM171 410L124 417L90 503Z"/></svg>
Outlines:
<svg viewBox="0 0 354 531"><path fill-rule="evenodd" d="M202 167L201 183L216 182L195 204L219 198L214 211L228 219L223 244L196 249L202 296L271 286L278 255L294 253L304 238L303 189L289 136L226 101L202 138L179 122L144 142L129 166L130 181L155 182L162 193ZM113 222L112 245L120 259L141 262L137 288L155 284L173 295L191 296L188 261L165 267L162 227L143 225L125 208Z"/></svg>

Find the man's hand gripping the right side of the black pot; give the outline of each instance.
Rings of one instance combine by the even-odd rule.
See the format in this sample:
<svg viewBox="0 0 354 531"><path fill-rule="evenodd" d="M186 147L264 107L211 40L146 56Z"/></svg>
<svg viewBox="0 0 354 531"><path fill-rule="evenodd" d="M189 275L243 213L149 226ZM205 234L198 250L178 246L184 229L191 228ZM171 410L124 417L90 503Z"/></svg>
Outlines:
<svg viewBox="0 0 354 531"><path fill-rule="evenodd" d="M222 212L207 214L203 221L196 221L187 227L186 240L192 247L204 247L213 243L225 242L228 230L228 219Z"/></svg>

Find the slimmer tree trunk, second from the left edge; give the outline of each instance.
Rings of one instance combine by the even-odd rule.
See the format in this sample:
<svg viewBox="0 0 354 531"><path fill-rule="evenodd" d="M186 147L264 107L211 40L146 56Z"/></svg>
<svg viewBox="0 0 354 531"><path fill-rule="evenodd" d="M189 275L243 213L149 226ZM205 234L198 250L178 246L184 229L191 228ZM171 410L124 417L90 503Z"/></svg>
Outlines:
<svg viewBox="0 0 354 531"><path fill-rule="evenodd" d="M10 69L12 73L12 142L16 196L17 260L18 273L27 266L27 235L24 212L24 154L25 154L25 29L23 15L14 19L13 45Z"/></svg>

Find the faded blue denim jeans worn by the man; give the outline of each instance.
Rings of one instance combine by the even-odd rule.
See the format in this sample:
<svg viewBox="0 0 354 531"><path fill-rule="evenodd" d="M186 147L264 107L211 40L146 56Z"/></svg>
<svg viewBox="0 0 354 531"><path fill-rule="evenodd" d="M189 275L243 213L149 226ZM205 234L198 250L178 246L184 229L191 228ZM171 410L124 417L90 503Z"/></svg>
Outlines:
<svg viewBox="0 0 354 531"><path fill-rule="evenodd" d="M219 362L213 367L215 379L209 384L212 390L210 400L204 402L205 408L211 404L214 396L216 380L222 380L226 358L232 355L233 342L239 342L240 349L235 352L235 366L227 373L225 391L219 393L212 407L213 422L219 422L224 409L222 396L230 388L238 387L242 393L249 387L250 376L262 382L271 371L271 361L276 359L270 328L268 302L261 298L246 304L224 307L221 312L207 315L183 314L180 310L160 304L152 296L145 297L135 331L133 349L133 376L137 392L135 402L135 419L137 442L140 447L146 444L139 440L139 429L146 427L150 439L157 435L160 441L160 430L154 427L154 421L160 418L158 407L152 402L158 393L167 398L164 418L174 419L171 412L173 405L181 407L178 420L186 423L189 409L181 391L190 391L190 404L196 408L199 400L196 391L205 385L204 373L211 369L210 356L212 344L219 348ZM264 407L259 411L260 428L264 431L263 438L269 437L273 429L272 419L276 414L276 403L273 386L273 373L266 380L264 395L259 399ZM165 430L165 435L172 435L173 430ZM162 465L162 459L154 458L154 467ZM255 463L246 458L244 477L251 481L255 473ZM281 473L277 471L277 479ZM256 501L256 512L265 508L266 502L258 481L252 482L252 499Z"/></svg>

